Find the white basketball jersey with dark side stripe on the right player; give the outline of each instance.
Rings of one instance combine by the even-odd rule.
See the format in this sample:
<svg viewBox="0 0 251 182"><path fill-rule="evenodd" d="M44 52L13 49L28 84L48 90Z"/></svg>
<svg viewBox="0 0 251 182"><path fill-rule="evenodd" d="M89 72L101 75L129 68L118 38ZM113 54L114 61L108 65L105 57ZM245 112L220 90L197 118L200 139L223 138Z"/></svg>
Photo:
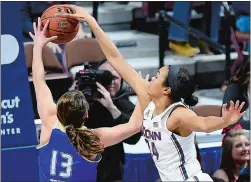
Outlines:
<svg viewBox="0 0 251 182"><path fill-rule="evenodd" d="M185 181L202 172L196 158L195 133L182 137L167 129L168 117L177 106L186 107L177 102L152 118L155 104L151 102L144 111L143 135L162 181Z"/></svg>

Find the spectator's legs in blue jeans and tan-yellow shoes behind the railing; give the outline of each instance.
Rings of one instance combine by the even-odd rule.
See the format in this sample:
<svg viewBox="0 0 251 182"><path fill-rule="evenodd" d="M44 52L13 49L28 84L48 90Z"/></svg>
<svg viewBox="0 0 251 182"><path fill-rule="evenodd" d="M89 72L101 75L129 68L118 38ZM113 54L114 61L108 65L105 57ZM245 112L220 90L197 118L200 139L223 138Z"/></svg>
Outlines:
<svg viewBox="0 0 251 182"><path fill-rule="evenodd" d="M177 1L174 3L173 7L173 17L183 23L184 25L189 26L190 23L190 18L191 18L191 4L192 2L181 2ZM211 23L211 28L210 28L210 34L211 34L211 39L215 42L218 42L219 39L219 29L220 29L220 7L221 7L221 2L218 1L211 1L211 6L212 6L212 13L211 13L211 22L206 22L206 23ZM189 36L187 31L179 28L175 24L171 23L170 24L170 30L169 30L169 47L177 54L182 55L182 56L194 56L199 53L199 50L192 47L189 44ZM204 44L203 44L204 45ZM207 48L205 48L205 45L203 46L203 51L209 51Z"/></svg>

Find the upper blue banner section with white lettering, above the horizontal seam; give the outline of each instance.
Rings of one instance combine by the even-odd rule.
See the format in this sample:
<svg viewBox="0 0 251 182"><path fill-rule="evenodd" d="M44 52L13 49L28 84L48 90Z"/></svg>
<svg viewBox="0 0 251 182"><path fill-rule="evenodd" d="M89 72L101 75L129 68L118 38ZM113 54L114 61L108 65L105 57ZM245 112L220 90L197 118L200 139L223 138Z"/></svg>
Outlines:
<svg viewBox="0 0 251 182"><path fill-rule="evenodd" d="M37 145L22 38L21 3L1 3L2 148Z"/></svg>

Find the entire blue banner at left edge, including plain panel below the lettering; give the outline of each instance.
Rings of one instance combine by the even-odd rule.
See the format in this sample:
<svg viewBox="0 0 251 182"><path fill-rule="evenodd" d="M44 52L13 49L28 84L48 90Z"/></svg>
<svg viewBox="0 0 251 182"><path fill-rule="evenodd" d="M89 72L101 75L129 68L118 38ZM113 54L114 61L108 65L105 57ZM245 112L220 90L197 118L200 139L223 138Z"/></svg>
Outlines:
<svg viewBox="0 0 251 182"><path fill-rule="evenodd" d="M23 2L1 2L2 181L39 181L37 137L22 38Z"/></svg>

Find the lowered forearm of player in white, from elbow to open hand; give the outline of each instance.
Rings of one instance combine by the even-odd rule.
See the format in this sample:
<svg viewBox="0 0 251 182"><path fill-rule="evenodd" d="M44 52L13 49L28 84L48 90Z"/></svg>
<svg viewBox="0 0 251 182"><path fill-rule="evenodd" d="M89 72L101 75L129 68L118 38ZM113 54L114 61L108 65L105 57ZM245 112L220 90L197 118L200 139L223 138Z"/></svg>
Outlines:
<svg viewBox="0 0 251 182"><path fill-rule="evenodd" d="M222 117L209 116L209 117L204 117L203 120L205 122L206 132L213 132L228 126L227 122L224 121Z"/></svg>

